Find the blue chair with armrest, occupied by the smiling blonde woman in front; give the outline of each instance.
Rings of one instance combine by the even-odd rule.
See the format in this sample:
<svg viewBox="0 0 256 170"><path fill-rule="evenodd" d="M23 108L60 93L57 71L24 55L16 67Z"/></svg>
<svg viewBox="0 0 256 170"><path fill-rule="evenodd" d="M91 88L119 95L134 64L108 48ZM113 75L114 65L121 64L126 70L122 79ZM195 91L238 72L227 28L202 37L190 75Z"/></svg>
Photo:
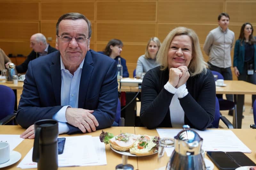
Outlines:
<svg viewBox="0 0 256 170"><path fill-rule="evenodd" d="M214 116L214 120L212 122L213 127L219 128L219 123L221 120L228 127L228 129L234 129L231 122L229 122L229 120L225 116L220 115L220 105L219 105L219 100L217 97L216 97L215 102L216 102L215 103L215 116Z"/></svg>

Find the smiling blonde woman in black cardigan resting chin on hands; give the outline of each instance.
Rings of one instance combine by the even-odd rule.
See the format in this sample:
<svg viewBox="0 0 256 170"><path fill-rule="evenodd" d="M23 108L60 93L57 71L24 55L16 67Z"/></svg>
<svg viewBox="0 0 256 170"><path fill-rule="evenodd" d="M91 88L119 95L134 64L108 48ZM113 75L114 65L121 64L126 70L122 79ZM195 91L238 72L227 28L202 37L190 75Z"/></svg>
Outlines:
<svg viewBox="0 0 256 170"><path fill-rule="evenodd" d="M200 49L196 33L173 29L164 39L156 60L142 82L140 120L148 129L212 127L215 81Z"/></svg>

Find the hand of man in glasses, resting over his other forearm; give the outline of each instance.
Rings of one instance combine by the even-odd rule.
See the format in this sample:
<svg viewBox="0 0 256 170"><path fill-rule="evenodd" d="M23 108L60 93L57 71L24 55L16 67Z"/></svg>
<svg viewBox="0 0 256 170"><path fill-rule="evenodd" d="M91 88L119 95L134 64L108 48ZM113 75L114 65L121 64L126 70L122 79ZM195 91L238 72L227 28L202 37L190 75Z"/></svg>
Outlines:
<svg viewBox="0 0 256 170"><path fill-rule="evenodd" d="M81 108L67 108L66 120L69 124L78 127L83 133L96 131L95 126L99 126L98 121L92 115L93 110Z"/></svg>

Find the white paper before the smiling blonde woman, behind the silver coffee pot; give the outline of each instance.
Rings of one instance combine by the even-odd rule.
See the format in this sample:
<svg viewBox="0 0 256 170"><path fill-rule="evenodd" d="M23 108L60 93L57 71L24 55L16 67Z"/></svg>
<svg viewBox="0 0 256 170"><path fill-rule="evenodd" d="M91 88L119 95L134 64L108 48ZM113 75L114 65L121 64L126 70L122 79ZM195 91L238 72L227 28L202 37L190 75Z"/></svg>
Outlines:
<svg viewBox="0 0 256 170"><path fill-rule="evenodd" d="M182 129L156 129L160 138L174 138ZM193 129L195 130L195 129ZM205 151L246 152L252 151L230 130L195 130L203 138L202 149ZM171 156L174 148L165 149Z"/></svg>

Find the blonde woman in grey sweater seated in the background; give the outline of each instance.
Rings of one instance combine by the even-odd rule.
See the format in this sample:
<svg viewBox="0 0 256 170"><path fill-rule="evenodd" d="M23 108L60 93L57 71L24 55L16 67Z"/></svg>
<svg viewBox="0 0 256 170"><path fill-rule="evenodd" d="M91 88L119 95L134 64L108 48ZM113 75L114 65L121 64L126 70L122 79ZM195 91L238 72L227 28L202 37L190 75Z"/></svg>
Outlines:
<svg viewBox="0 0 256 170"><path fill-rule="evenodd" d="M146 73L151 68L159 66L156 62L156 54L161 46L161 42L157 37L149 39L146 52L141 55L137 61L136 77L140 78L141 73Z"/></svg>

